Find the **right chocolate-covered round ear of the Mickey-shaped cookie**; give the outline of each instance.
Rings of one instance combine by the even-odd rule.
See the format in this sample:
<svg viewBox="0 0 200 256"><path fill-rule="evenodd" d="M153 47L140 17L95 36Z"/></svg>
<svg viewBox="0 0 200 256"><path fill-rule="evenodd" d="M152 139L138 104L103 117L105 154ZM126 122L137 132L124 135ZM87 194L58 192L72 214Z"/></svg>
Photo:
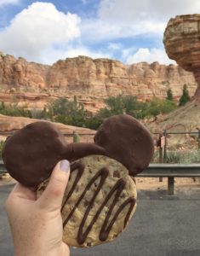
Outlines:
<svg viewBox="0 0 200 256"><path fill-rule="evenodd" d="M128 114L106 119L95 134L94 143L104 148L107 156L126 166L131 176L149 165L154 151L150 132Z"/></svg>

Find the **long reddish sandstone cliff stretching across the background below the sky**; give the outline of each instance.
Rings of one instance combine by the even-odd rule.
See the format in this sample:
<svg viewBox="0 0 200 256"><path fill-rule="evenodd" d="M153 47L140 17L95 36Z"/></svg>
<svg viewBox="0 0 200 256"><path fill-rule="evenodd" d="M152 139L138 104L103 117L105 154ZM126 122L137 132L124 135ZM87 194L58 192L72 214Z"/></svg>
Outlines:
<svg viewBox="0 0 200 256"><path fill-rule="evenodd" d="M178 99L184 84L192 96L197 89L193 73L176 65L124 65L120 61L78 56L48 66L0 53L0 102L16 101L29 108L43 108L60 96L77 96L85 108L95 112L104 107L106 97L118 94L145 101L153 96L165 98L170 88Z"/></svg>

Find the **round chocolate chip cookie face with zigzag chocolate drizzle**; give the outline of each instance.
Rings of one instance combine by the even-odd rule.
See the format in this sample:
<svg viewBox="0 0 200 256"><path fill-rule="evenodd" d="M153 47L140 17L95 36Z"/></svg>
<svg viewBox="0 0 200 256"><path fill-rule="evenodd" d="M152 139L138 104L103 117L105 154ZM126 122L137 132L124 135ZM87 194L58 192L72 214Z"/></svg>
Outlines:
<svg viewBox="0 0 200 256"><path fill-rule="evenodd" d="M37 195L48 181L41 183ZM61 209L63 241L91 247L115 239L136 208L136 186L117 160L90 155L71 164L71 176Z"/></svg>

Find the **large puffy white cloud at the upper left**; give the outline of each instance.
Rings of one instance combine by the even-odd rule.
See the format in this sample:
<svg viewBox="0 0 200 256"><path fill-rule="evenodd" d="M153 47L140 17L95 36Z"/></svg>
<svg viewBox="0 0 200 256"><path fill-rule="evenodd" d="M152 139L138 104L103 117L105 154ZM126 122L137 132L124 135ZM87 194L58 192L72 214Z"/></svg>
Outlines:
<svg viewBox="0 0 200 256"><path fill-rule="evenodd" d="M65 47L80 37L80 21L77 15L58 11L52 3L32 3L0 32L0 49L40 61L45 49Z"/></svg>

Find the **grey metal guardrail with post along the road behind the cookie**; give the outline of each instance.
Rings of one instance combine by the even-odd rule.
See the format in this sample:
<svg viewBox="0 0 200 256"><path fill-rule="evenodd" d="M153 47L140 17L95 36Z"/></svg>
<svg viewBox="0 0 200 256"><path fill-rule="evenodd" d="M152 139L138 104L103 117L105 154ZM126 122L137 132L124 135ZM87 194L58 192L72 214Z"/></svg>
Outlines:
<svg viewBox="0 0 200 256"><path fill-rule="evenodd" d="M3 161L1 173L6 173ZM168 177L168 194L174 195L174 177L200 177L200 164L150 164L137 177Z"/></svg>

